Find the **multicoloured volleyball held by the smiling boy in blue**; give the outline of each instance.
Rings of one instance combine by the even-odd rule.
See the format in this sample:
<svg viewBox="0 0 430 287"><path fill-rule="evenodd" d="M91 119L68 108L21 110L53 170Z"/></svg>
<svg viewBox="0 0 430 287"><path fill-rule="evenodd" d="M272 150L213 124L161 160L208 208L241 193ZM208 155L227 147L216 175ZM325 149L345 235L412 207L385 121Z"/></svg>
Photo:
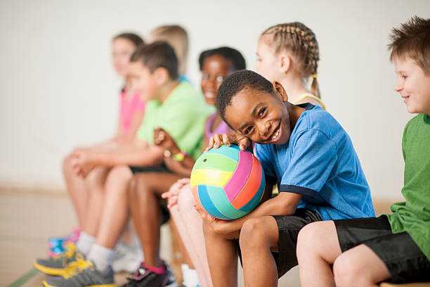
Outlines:
<svg viewBox="0 0 430 287"><path fill-rule="evenodd" d="M235 145L203 153L191 172L195 202L219 219L236 219L253 210L265 184L259 160Z"/></svg>

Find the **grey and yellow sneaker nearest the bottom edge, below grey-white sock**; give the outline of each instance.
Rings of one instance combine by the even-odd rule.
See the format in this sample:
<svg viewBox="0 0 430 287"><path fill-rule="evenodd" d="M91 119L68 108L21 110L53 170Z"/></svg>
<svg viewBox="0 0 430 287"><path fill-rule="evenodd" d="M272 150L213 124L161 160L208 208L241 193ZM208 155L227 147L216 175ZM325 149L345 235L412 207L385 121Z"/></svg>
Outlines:
<svg viewBox="0 0 430 287"><path fill-rule="evenodd" d="M91 260L85 261L81 256L67 266L67 272L63 276L50 277L42 284L45 287L115 287L112 268L102 273Z"/></svg>

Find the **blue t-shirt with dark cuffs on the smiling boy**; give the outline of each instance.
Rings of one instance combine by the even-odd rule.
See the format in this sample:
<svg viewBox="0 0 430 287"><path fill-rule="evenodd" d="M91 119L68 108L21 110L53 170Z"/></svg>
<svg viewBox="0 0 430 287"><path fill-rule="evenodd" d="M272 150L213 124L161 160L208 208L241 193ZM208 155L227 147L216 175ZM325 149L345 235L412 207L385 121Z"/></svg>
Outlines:
<svg viewBox="0 0 430 287"><path fill-rule="evenodd" d="M280 192L302 194L298 208L323 220L374 217L372 198L360 161L339 122L318 106L306 110L286 144L256 144L264 174L278 180Z"/></svg>

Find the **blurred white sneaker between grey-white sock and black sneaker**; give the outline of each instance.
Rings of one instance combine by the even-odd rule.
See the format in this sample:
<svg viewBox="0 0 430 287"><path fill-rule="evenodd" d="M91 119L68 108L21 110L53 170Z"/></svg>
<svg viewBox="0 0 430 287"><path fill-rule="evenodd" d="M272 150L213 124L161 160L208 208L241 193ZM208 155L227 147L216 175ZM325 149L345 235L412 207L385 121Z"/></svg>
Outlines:
<svg viewBox="0 0 430 287"><path fill-rule="evenodd" d="M116 272L133 273L143 261L143 253L138 243L129 245L119 241L115 246L112 269Z"/></svg>

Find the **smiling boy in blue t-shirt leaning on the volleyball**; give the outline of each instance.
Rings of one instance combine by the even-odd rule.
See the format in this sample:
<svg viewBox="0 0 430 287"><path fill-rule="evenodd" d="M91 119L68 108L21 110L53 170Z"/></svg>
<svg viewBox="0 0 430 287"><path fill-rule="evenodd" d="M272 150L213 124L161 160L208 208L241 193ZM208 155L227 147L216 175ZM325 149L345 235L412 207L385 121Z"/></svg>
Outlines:
<svg viewBox="0 0 430 287"><path fill-rule="evenodd" d="M216 108L235 134L215 134L208 148L235 143L243 150L255 142L268 184L261 204L239 219L214 219L197 208L214 286L235 286L237 252L246 286L276 286L297 265L297 236L306 224L374 216L351 139L327 111L289 103L282 84L249 70L224 80ZM271 198L275 183L279 195Z"/></svg>

